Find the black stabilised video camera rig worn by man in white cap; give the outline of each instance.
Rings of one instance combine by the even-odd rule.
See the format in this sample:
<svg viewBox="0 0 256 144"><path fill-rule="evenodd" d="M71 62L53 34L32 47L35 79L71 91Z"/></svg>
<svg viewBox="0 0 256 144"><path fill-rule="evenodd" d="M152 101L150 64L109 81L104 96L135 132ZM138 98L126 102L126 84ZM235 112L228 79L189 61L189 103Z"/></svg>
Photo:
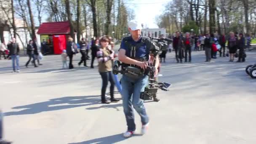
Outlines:
<svg viewBox="0 0 256 144"><path fill-rule="evenodd" d="M157 40L157 41L155 41ZM145 88L144 92L141 93L140 98L143 100L154 100L154 101L159 101L159 99L157 99L157 90L161 89L163 91L169 91L168 88L171 86L171 84L169 83L159 83L155 80L155 71L156 71L156 67L155 67L155 59L157 58L157 55L161 54L161 49L163 48L163 46L165 46L166 44L163 42L163 40L165 41L169 41L170 39L166 39L166 38L151 38L151 43L152 43L152 47L150 48L150 52L149 54L151 56L154 56L154 60L152 64L149 64L149 67L147 67L146 71L149 72L149 85ZM131 77L133 76L142 76L144 75L145 71L142 71L141 69L138 69L136 67L121 67L121 69L119 69L119 67L122 64L120 63L120 61L115 61L114 66L113 66L113 74L117 75L118 73L121 74L125 74L125 75L131 75Z"/></svg>

